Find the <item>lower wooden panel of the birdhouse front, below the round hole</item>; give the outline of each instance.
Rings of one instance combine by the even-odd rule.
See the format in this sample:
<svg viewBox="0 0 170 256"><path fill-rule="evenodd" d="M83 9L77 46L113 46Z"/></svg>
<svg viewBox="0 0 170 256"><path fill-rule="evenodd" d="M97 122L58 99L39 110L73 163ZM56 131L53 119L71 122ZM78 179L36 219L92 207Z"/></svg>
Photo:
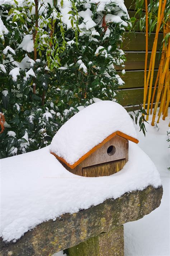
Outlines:
<svg viewBox="0 0 170 256"><path fill-rule="evenodd" d="M116 160L112 162L100 163L82 168L82 176L100 177L109 176L120 171L126 163L126 159Z"/></svg>

